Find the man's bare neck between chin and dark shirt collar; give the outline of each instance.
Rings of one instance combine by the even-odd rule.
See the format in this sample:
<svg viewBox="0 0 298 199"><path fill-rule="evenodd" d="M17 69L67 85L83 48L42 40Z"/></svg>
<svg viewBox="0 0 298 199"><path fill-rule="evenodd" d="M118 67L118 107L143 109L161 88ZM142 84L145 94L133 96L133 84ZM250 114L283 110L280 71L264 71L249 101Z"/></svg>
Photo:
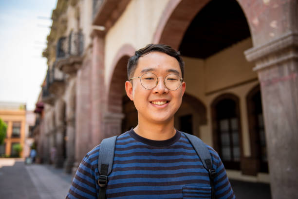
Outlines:
<svg viewBox="0 0 298 199"><path fill-rule="evenodd" d="M139 120L138 125L133 129L139 136L151 140L166 140L175 136L174 118L168 122L152 123Z"/></svg>

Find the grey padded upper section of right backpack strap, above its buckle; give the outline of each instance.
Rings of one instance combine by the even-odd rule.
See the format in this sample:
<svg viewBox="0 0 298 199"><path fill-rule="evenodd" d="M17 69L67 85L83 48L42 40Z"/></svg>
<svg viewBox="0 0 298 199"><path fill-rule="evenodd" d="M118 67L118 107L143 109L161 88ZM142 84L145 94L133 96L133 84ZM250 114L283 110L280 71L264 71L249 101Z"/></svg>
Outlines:
<svg viewBox="0 0 298 199"><path fill-rule="evenodd" d="M205 145L205 143L199 139L198 137L196 136L193 136L193 135L190 135L188 133L184 133L182 132L186 138L190 141L190 143L192 144L193 148L195 149L195 151L197 152L198 156L200 157L202 163L203 163L203 166L205 167L205 169L209 169L208 166L206 165L206 162L205 160L206 159L210 159L211 161L211 165L212 164L212 159L211 159L211 155L210 155L210 152L207 148L207 146Z"/></svg>

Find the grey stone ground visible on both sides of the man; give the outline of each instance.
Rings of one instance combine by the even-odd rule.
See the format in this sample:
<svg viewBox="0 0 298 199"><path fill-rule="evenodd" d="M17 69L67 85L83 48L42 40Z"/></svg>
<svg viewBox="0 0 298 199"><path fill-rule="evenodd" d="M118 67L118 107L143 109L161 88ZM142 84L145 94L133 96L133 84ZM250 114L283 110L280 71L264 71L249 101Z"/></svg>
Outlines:
<svg viewBox="0 0 298 199"><path fill-rule="evenodd" d="M72 176L47 164L0 158L0 199L65 199ZM271 199L270 185L230 180L237 199Z"/></svg>

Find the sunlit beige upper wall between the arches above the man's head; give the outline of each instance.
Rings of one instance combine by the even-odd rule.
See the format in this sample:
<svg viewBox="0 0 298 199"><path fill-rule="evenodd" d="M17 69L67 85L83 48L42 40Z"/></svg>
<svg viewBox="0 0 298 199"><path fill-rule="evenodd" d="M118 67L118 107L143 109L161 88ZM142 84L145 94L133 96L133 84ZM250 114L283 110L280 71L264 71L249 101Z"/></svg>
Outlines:
<svg viewBox="0 0 298 199"><path fill-rule="evenodd" d="M105 77L112 73L112 62L124 44L145 47L152 38L168 0L131 0L121 17L106 35ZM108 85L109 80L105 80Z"/></svg>

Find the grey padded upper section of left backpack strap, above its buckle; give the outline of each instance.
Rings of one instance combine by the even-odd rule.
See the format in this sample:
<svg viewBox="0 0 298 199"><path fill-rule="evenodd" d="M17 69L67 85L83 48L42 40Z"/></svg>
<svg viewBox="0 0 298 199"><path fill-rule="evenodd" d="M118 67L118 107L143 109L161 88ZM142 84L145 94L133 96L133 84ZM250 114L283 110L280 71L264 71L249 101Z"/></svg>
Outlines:
<svg viewBox="0 0 298 199"><path fill-rule="evenodd" d="M111 173L117 137L118 136L113 136L111 138L106 138L101 141L99 154L98 154L98 166L97 166L99 173L100 173L100 167L102 164L109 165L107 174L109 175Z"/></svg>

